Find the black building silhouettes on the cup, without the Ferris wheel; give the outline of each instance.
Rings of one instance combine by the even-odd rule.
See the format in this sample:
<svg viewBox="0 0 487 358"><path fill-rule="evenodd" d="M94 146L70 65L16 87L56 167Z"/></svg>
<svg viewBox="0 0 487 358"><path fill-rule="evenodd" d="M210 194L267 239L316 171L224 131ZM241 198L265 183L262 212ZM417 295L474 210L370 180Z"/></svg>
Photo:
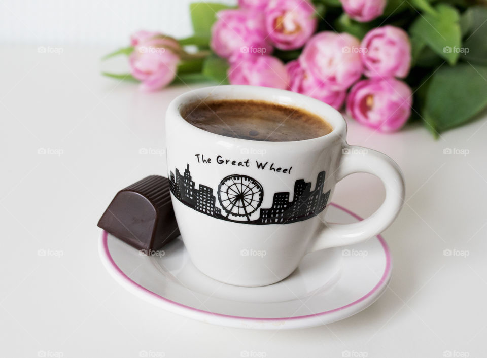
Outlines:
<svg viewBox="0 0 487 358"><path fill-rule="evenodd" d="M261 208L260 216L252 221L233 220L229 215L224 216L221 208L215 206L216 197L213 189L199 184L198 189L192 180L189 164L183 175L176 169L176 175L171 171L169 186L172 194L186 206L206 215L227 221L245 224L279 224L294 223L306 220L323 211L328 202L330 191L323 193L325 172L318 173L315 189L311 191L311 183L299 179L294 183L293 200L290 201L289 192L275 193L270 208Z"/></svg>

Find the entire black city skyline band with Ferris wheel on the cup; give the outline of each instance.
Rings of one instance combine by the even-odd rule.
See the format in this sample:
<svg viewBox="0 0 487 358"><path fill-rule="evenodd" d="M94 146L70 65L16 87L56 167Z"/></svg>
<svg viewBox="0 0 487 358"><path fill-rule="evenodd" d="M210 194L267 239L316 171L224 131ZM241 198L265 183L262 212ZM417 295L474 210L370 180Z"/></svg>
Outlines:
<svg viewBox="0 0 487 358"><path fill-rule="evenodd" d="M213 189L199 184L195 187L189 164L181 174L176 168L176 175L169 174L171 193L184 205L217 219L242 224L287 224L303 221L318 215L328 202L330 191L323 193L325 172L318 173L315 189L311 191L311 183L299 179L294 183L293 200L289 201L290 192L274 193L272 206L260 208L264 196L262 185L247 175L232 174L224 177L217 189L217 197ZM260 208L258 219L250 217Z"/></svg>

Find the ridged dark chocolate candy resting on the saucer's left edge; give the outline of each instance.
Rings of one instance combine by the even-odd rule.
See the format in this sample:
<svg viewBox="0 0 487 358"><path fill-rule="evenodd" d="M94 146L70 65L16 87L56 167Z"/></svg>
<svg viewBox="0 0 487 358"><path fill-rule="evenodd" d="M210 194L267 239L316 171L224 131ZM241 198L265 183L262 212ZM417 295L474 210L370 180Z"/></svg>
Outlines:
<svg viewBox="0 0 487 358"><path fill-rule="evenodd" d="M160 175L150 175L120 190L98 226L151 255L180 235L169 181Z"/></svg>

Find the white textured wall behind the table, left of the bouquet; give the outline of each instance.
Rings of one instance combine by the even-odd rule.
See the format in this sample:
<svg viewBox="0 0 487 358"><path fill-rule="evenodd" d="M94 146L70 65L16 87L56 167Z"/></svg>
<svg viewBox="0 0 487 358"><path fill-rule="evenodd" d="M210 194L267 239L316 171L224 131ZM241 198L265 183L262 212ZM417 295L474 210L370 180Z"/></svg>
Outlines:
<svg viewBox="0 0 487 358"><path fill-rule="evenodd" d="M192 34L191 0L2 0L0 41L123 46L130 33L157 30ZM218 0L236 4L236 0Z"/></svg>

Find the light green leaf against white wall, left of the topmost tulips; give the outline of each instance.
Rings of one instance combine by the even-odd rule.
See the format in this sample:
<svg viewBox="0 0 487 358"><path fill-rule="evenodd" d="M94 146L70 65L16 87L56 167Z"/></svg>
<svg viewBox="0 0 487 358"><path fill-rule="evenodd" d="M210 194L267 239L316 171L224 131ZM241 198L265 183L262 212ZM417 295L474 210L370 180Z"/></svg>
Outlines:
<svg viewBox="0 0 487 358"><path fill-rule="evenodd" d="M189 12L191 22L196 36L205 39L205 43L210 43L211 30L213 23L216 21L216 13L220 10L231 9L232 7L219 3L191 3Z"/></svg>

